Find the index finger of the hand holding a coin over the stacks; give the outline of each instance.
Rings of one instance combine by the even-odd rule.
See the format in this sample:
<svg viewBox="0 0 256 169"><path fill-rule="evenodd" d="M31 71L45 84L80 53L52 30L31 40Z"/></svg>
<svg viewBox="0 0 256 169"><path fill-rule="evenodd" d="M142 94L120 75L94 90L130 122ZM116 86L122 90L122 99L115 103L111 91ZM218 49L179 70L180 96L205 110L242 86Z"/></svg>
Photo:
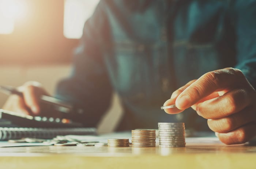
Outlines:
<svg viewBox="0 0 256 169"><path fill-rule="evenodd" d="M233 68L208 72L177 97L176 107L184 110L215 91L229 90L236 85L241 85L241 77L244 78L242 72Z"/></svg>

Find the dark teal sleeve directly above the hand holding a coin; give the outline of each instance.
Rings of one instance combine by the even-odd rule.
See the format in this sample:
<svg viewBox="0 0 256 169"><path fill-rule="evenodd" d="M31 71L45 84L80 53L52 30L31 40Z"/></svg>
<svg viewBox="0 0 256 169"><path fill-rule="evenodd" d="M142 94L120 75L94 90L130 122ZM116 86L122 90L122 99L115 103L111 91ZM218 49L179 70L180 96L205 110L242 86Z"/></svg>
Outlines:
<svg viewBox="0 0 256 169"><path fill-rule="evenodd" d="M256 1L238 0L234 4L237 66L256 89Z"/></svg>

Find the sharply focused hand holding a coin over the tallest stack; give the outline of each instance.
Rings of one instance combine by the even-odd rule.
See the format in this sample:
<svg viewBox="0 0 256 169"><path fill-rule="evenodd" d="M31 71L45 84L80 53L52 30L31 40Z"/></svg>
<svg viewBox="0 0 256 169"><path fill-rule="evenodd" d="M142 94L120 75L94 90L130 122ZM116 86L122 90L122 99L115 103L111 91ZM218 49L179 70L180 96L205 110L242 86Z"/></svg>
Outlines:
<svg viewBox="0 0 256 169"><path fill-rule="evenodd" d="M164 105L177 114L192 107L225 144L245 143L256 136L256 91L238 69L204 74L174 91Z"/></svg>

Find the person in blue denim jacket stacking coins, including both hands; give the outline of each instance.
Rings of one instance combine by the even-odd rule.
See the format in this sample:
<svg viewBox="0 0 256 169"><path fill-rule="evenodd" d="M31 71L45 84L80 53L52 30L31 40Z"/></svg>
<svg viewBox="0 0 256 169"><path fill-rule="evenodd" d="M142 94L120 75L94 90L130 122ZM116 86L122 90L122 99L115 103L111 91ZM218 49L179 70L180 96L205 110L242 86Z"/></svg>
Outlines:
<svg viewBox="0 0 256 169"><path fill-rule="evenodd" d="M116 92L124 108L117 130L185 122L226 144L247 142L256 135L253 16L255 0L102 0L56 97L87 112L74 117L84 126L97 125ZM4 109L38 115L45 90L20 90L24 97L10 96ZM163 103L177 108L166 114Z"/></svg>

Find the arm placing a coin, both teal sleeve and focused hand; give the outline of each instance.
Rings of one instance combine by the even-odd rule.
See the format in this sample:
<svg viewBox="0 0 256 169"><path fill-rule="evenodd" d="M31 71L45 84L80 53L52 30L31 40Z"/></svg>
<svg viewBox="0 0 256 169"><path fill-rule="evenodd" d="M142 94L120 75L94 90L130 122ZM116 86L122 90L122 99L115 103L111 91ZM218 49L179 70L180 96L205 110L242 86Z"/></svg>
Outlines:
<svg viewBox="0 0 256 169"><path fill-rule="evenodd" d="M192 107L226 144L256 136L256 1L239 0L234 9L238 69L208 72L173 92L164 104L176 104L165 110L169 114Z"/></svg>

